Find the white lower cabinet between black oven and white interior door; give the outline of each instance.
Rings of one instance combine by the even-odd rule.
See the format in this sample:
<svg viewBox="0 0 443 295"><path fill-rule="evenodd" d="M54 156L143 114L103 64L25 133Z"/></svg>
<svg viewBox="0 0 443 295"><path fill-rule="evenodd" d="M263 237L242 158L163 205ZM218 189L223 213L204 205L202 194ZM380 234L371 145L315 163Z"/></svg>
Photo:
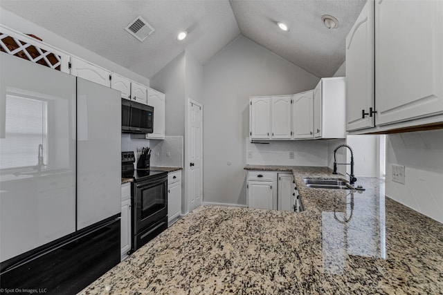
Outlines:
<svg viewBox="0 0 443 295"><path fill-rule="evenodd" d="M181 171L168 174L168 226L181 216Z"/></svg>

